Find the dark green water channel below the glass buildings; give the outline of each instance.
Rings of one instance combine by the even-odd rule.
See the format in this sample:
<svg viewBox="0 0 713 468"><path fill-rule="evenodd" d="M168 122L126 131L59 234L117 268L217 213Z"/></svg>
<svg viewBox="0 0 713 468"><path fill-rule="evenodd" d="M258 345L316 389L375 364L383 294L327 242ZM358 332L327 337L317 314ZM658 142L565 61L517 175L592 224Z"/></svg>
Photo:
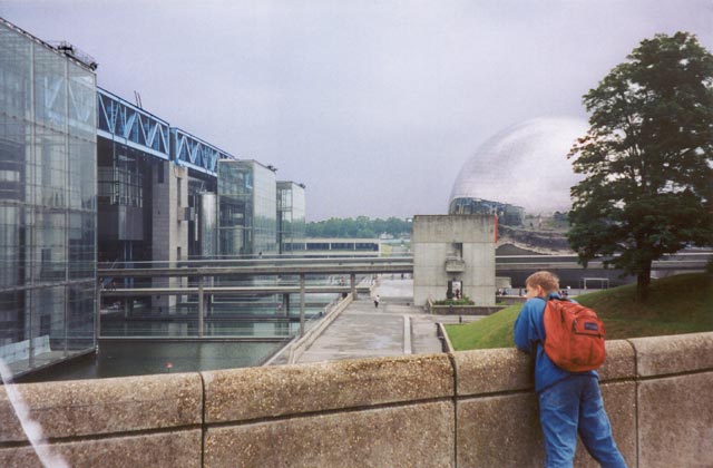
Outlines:
<svg viewBox="0 0 713 468"><path fill-rule="evenodd" d="M307 294L306 326L316 323L335 299L334 294ZM296 301L299 298L292 303L299 304ZM139 313L129 319L104 310L96 353L60 362L17 381L101 379L261 365L300 331L299 310L275 316L265 313L265 308L223 304L217 309L218 312L205 321L205 340L197 339L196 312L191 306L163 315L156 311Z"/></svg>

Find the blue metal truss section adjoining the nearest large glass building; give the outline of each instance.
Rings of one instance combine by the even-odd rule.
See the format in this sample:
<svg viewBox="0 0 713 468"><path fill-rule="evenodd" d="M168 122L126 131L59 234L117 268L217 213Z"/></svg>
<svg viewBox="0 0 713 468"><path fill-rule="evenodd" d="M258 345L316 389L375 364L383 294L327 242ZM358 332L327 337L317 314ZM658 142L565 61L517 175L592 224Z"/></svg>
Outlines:
<svg viewBox="0 0 713 468"><path fill-rule="evenodd" d="M97 88L97 135L170 159L167 121Z"/></svg>

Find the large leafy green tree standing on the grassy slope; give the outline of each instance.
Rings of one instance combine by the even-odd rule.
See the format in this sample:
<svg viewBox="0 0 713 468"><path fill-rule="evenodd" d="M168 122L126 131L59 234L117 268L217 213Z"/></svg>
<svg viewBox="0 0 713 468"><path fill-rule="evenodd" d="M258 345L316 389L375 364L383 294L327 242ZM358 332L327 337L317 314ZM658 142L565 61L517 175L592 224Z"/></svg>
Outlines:
<svg viewBox="0 0 713 468"><path fill-rule="evenodd" d="M713 243L713 56L695 36L644 40L584 96L589 130L572 148L569 243L637 279L652 262Z"/></svg>

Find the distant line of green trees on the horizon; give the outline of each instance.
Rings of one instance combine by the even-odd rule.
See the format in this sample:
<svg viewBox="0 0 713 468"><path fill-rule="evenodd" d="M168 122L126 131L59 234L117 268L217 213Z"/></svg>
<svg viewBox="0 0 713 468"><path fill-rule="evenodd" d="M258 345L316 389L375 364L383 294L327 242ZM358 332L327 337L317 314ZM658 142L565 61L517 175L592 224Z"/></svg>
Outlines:
<svg viewBox="0 0 713 468"><path fill-rule="evenodd" d="M389 234L394 237L411 234L411 223L398 217L371 220L368 216L356 218L332 217L326 221L307 223L307 237L379 237Z"/></svg>

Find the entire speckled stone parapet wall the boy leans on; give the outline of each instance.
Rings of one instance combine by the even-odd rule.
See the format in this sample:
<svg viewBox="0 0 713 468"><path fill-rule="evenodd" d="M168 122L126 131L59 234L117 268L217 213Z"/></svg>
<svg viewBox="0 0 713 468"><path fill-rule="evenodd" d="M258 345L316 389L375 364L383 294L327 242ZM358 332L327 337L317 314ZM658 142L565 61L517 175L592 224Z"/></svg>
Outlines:
<svg viewBox="0 0 713 468"><path fill-rule="evenodd" d="M632 467L713 466L713 333L607 343ZM12 389L72 467L540 467L531 363L514 349ZM40 466L4 392L0 466ZM579 447L575 466L597 464Z"/></svg>

